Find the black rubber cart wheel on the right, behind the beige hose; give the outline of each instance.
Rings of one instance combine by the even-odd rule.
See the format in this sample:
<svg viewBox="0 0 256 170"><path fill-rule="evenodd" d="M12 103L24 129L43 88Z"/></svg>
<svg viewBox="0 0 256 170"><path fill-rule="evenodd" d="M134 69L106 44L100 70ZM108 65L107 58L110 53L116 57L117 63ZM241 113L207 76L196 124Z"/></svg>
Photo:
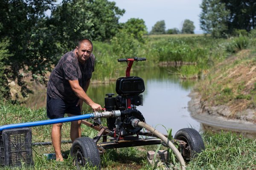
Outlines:
<svg viewBox="0 0 256 170"><path fill-rule="evenodd" d="M185 156L182 154L185 161L190 161L190 159L195 158L198 153L205 149L201 135L197 130L192 128L178 130L174 139L182 140L187 143L185 147L187 154Z"/></svg>

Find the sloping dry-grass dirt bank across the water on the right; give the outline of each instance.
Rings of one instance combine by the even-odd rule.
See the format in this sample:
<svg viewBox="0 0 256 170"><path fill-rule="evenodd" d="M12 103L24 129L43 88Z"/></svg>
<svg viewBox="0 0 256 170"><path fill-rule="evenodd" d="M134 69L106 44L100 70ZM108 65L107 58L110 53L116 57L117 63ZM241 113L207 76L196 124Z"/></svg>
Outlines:
<svg viewBox="0 0 256 170"><path fill-rule="evenodd" d="M189 111L199 122L256 137L256 51L242 50L217 63L190 97Z"/></svg>

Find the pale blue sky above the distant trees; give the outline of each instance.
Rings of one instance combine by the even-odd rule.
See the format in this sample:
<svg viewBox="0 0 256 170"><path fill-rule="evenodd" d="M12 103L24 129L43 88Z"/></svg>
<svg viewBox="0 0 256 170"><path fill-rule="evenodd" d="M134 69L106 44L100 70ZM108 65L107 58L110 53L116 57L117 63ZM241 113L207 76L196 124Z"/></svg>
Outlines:
<svg viewBox="0 0 256 170"><path fill-rule="evenodd" d="M125 23L130 18L139 18L145 21L148 31L157 21L164 20L166 30L182 29L184 20L194 22L195 33L201 34L199 14L202 0L109 0L116 2L116 6L125 9L125 14L119 22Z"/></svg>

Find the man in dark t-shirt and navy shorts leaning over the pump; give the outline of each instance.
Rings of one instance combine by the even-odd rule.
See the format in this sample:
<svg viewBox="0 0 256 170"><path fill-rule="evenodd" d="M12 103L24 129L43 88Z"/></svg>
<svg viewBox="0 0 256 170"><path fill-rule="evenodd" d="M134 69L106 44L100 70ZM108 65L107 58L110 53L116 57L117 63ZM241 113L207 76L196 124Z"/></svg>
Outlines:
<svg viewBox="0 0 256 170"><path fill-rule="evenodd" d="M47 86L47 117L50 119L81 115L83 102L93 111L102 107L94 103L86 94L90 78L94 71L95 57L92 54L93 43L88 39L79 41L78 46L63 55L53 69ZM81 121L72 121L70 138L72 142L81 137ZM61 155L62 123L52 125L52 145L56 161L63 161Z"/></svg>

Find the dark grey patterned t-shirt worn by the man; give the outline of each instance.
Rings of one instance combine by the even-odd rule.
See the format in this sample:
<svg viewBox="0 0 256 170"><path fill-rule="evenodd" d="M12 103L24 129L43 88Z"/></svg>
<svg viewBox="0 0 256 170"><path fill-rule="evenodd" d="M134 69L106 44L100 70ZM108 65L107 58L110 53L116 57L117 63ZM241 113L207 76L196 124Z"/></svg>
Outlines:
<svg viewBox="0 0 256 170"><path fill-rule="evenodd" d="M93 54L84 64L79 63L74 51L64 54L52 70L47 85L47 94L51 98L61 98L67 102L75 102L78 97L71 89L68 80L78 80L79 85L84 88L86 82L92 77L94 61Z"/></svg>

